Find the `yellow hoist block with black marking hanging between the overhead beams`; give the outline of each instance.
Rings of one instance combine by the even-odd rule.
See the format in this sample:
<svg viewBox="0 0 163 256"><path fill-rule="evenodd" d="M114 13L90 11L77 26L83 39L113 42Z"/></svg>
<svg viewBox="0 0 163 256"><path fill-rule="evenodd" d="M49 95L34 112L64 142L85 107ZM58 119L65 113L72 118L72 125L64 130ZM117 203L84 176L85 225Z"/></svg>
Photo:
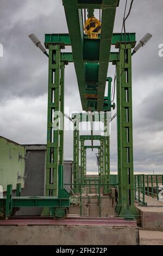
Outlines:
<svg viewBox="0 0 163 256"><path fill-rule="evenodd" d="M88 35L88 38L98 39L98 34L101 33L101 22L95 17L91 17L86 20L84 31Z"/></svg>

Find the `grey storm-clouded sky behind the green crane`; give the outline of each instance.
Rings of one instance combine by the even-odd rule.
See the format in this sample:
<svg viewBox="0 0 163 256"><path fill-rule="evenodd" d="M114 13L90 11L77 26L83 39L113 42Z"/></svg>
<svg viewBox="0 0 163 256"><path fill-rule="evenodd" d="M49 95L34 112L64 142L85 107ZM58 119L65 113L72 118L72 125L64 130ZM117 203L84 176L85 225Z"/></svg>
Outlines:
<svg viewBox="0 0 163 256"><path fill-rule="evenodd" d="M124 5L117 8L114 32L121 32ZM128 0L129 8L130 0ZM135 0L127 32L137 41L152 40L133 56L133 123L135 172L163 173L162 0ZM68 33L61 0L0 0L0 135L22 144L46 143L48 59L28 39L35 33ZM109 76L114 68L109 67ZM73 64L66 66L65 107L82 111ZM114 113L114 112L113 112ZM66 120L66 124L67 124ZM111 126L111 171L117 170L116 120ZM96 151L87 152L87 170L95 171ZM73 132L65 132L65 159L73 157Z"/></svg>

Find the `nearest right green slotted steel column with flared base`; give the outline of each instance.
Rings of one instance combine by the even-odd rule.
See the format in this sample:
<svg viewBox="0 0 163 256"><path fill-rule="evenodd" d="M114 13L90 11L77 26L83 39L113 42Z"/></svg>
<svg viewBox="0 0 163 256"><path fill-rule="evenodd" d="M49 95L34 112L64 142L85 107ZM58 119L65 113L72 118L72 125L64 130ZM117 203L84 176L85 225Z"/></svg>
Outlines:
<svg viewBox="0 0 163 256"><path fill-rule="evenodd" d="M120 217L134 218L131 44L120 45L117 70L118 204Z"/></svg>

